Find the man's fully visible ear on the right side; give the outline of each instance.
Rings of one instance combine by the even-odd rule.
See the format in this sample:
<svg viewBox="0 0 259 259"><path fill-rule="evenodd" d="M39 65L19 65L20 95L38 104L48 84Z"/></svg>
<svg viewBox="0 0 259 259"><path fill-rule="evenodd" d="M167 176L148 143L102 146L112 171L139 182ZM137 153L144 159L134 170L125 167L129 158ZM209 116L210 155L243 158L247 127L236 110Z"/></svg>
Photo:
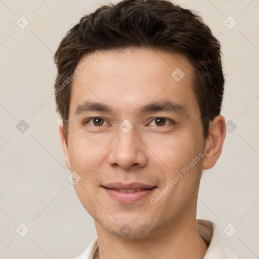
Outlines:
<svg viewBox="0 0 259 259"><path fill-rule="evenodd" d="M202 169L209 169L219 159L226 137L226 123L222 115L209 122L209 135L205 141Z"/></svg>

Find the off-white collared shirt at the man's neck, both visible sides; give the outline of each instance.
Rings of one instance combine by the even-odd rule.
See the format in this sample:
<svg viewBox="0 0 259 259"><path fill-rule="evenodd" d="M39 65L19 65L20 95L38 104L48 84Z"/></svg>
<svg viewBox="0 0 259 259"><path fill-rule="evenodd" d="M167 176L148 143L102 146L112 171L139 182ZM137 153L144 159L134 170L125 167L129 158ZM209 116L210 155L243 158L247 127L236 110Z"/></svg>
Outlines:
<svg viewBox="0 0 259 259"><path fill-rule="evenodd" d="M237 256L230 250L227 243L222 239L220 232L211 221L197 220L199 234L209 245L203 259L237 259ZM75 259L95 259L94 254L98 248L98 237L96 237L87 249Z"/></svg>

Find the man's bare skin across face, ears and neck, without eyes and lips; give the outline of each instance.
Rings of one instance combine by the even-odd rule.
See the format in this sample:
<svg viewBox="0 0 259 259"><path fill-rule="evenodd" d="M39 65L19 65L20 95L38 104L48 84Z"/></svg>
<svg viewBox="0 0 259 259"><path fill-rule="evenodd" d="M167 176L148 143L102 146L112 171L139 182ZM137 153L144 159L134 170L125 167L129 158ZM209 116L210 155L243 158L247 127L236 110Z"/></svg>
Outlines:
<svg viewBox="0 0 259 259"><path fill-rule="evenodd" d="M82 57L81 61L84 60ZM176 68L185 73L180 81L171 76ZM189 117L187 121L164 111L147 114L146 122L154 117L177 122L175 126L167 126L166 132L152 133L149 138L135 130L125 134L120 129L112 138L106 138L105 131L83 137L78 135L76 124L69 123L66 140L60 122L66 166L80 175L75 191L95 220L99 241L95 256L203 258L207 245L196 226L200 177L203 169L211 168L218 160L226 130L224 117L217 116L210 121L209 136L204 139L201 120L197 119L200 110L193 92L193 67L189 60L180 54L150 49L101 51L73 81L69 119L73 120L76 107L86 100L112 107L114 113L110 115L115 120L135 121L135 108L151 101L167 100L184 105ZM154 120L153 125L156 125ZM151 198L163 191L199 153L203 157L163 198L152 204ZM148 197L122 204L101 187L113 182L139 182L157 187ZM127 234L120 231L125 224L129 226Z"/></svg>

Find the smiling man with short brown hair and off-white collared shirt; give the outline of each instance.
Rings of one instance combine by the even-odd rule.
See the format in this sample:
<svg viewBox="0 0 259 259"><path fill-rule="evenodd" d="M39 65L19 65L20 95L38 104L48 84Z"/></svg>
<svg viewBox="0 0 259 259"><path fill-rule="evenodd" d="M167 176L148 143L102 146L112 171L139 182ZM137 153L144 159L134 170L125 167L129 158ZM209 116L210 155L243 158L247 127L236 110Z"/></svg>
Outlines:
<svg viewBox="0 0 259 259"><path fill-rule="evenodd" d="M236 258L196 220L226 135L220 43L201 18L162 0L103 6L55 62L65 163L98 234L77 259Z"/></svg>

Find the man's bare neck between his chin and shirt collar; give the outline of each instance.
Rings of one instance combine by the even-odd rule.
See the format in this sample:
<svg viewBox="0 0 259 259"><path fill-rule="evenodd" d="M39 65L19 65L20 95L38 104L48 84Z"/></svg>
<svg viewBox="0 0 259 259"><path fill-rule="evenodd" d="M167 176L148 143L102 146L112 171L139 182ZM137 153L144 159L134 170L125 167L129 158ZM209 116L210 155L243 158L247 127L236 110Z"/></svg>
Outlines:
<svg viewBox="0 0 259 259"><path fill-rule="evenodd" d="M111 235L95 222L99 249L94 258L203 258L208 246L198 232L196 218L186 219L183 215L180 218L180 221L174 221L170 226L141 239Z"/></svg>

